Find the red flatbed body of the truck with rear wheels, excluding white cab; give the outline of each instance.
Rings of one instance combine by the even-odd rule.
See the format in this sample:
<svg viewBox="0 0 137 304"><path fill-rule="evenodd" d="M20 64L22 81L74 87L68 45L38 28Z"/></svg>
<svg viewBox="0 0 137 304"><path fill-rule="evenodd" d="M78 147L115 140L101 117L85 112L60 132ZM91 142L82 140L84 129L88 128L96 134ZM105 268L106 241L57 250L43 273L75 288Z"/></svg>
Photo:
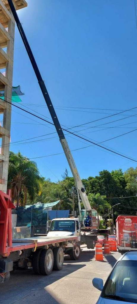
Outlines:
<svg viewBox="0 0 137 304"><path fill-rule="evenodd" d="M45 236L12 240L12 213L15 206L7 194L0 191L0 283L10 278L16 268L30 268L39 275L50 275L52 270L61 270L64 252L71 250L77 256L78 237Z"/></svg>

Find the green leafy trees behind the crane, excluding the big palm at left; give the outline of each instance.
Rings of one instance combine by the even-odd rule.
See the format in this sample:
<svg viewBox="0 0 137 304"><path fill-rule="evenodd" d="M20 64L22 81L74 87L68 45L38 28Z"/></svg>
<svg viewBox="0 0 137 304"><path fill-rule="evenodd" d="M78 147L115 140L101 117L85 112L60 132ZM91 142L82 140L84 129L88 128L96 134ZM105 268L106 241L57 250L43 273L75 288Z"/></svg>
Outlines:
<svg viewBox="0 0 137 304"><path fill-rule="evenodd" d="M111 206L114 207L114 218L118 214L136 214L137 210L137 168L129 168L123 172L122 169L111 172L103 170L98 176L89 176L82 179L86 189L89 202L94 209L97 209L101 216L108 215L108 208L111 213ZM36 200L41 202L61 200L60 209L72 210L72 192L74 189L75 210L78 211L77 191L73 177L66 177L57 183L49 179L43 182L42 193L37 195ZM131 197L132 196L132 197ZM125 198L126 197L126 198ZM122 199L123 198L123 199ZM125 199L124 199L125 198ZM81 203L81 208L84 206Z"/></svg>

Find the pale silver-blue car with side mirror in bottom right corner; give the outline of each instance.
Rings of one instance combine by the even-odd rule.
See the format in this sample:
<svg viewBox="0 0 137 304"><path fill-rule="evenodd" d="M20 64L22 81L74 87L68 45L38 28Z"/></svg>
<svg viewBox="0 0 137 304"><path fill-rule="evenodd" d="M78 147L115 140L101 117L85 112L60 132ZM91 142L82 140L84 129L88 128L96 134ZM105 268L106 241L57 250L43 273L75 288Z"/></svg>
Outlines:
<svg viewBox="0 0 137 304"><path fill-rule="evenodd" d="M119 258L104 286L100 278L94 278L92 284L101 291L97 304L137 303L137 252Z"/></svg>

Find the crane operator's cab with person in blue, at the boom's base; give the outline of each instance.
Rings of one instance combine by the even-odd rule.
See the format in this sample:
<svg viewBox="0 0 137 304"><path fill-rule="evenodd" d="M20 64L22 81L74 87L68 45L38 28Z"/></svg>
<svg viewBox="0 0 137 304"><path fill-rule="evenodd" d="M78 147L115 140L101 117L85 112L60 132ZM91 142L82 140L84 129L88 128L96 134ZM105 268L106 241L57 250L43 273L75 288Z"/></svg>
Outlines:
<svg viewBox="0 0 137 304"><path fill-rule="evenodd" d="M98 229L99 226L99 215L95 209L83 209L80 211L81 227L85 229Z"/></svg>

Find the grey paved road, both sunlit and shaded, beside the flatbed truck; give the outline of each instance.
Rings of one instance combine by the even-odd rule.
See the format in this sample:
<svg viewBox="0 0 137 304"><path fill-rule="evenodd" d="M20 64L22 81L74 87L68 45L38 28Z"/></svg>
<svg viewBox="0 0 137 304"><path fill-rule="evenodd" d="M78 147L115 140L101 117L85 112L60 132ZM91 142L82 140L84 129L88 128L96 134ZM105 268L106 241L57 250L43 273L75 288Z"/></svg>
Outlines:
<svg viewBox="0 0 137 304"><path fill-rule="evenodd" d="M83 248L79 261L66 256L63 269L50 276L34 275L32 269L16 271L9 282L0 285L0 303L95 304L100 292L93 287L92 278L105 281L120 254L105 255L103 262L95 261L94 254Z"/></svg>

